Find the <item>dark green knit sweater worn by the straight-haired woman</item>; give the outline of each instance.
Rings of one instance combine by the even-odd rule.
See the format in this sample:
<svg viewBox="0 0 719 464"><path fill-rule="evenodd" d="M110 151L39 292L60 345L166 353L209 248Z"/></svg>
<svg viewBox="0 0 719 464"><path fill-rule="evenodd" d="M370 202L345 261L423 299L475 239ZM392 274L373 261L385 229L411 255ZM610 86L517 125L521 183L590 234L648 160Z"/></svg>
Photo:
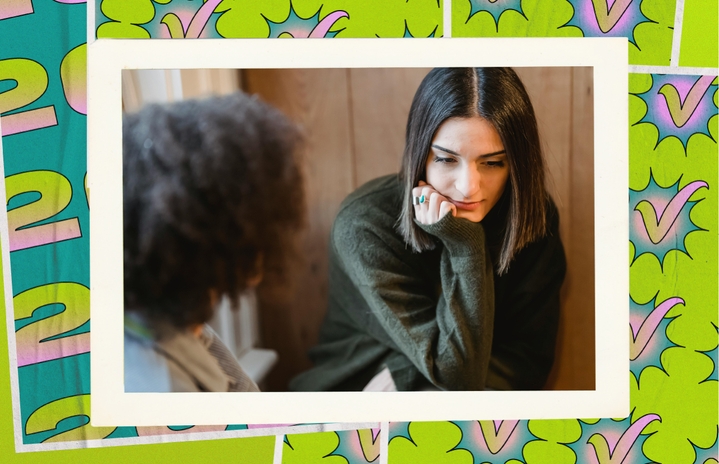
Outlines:
<svg viewBox="0 0 719 464"><path fill-rule="evenodd" d="M398 390L541 388L565 272L556 208L548 237L496 276L490 250L499 247L505 202L482 223L446 215L421 225L437 247L415 253L395 228L401 199L392 175L342 203L330 237L327 314L310 350L315 367L290 388L361 390L384 366Z"/></svg>

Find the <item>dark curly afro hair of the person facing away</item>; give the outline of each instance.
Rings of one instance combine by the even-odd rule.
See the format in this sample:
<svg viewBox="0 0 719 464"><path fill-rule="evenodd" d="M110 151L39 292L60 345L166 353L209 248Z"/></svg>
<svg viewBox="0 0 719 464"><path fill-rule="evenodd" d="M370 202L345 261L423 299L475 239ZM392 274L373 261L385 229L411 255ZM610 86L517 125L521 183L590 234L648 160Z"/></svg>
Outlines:
<svg viewBox="0 0 719 464"><path fill-rule="evenodd" d="M212 292L236 299L262 267L281 265L304 223L300 141L243 93L125 115L125 307L203 323Z"/></svg>

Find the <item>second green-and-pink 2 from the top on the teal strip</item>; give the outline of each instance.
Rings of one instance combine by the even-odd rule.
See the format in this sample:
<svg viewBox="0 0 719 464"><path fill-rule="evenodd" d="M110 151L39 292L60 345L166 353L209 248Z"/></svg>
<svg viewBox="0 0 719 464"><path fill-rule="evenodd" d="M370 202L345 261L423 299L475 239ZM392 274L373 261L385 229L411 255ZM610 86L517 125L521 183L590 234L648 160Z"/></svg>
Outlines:
<svg viewBox="0 0 719 464"><path fill-rule="evenodd" d="M8 204L23 193L40 194L39 199L8 211L10 251L82 237L80 221L76 217L33 225L59 214L70 204L72 186L62 174L55 171L21 172L5 178L5 189Z"/></svg>

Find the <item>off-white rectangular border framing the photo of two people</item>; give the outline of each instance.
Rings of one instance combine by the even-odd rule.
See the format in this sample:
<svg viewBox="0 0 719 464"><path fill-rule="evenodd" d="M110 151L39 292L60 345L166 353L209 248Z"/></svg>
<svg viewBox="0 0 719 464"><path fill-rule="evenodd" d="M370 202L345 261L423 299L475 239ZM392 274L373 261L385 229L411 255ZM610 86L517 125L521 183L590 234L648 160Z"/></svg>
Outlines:
<svg viewBox="0 0 719 464"><path fill-rule="evenodd" d="M93 426L560 419L629 414L626 39L100 40L88 45ZM594 70L595 390L125 393L123 69L566 67Z"/></svg>

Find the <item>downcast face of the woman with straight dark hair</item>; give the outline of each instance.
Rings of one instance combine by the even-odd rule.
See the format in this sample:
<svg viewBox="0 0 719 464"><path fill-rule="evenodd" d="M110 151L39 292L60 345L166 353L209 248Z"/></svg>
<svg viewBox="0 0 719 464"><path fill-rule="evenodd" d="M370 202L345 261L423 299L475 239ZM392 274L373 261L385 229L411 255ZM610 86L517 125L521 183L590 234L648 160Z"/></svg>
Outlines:
<svg viewBox="0 0 719 464"><path fill-rule="evenodd" d="M456 217L480 222L502 196L509 164L489 121L450 118L432 139L426 174L427 183L456 206Z"/></svg>

